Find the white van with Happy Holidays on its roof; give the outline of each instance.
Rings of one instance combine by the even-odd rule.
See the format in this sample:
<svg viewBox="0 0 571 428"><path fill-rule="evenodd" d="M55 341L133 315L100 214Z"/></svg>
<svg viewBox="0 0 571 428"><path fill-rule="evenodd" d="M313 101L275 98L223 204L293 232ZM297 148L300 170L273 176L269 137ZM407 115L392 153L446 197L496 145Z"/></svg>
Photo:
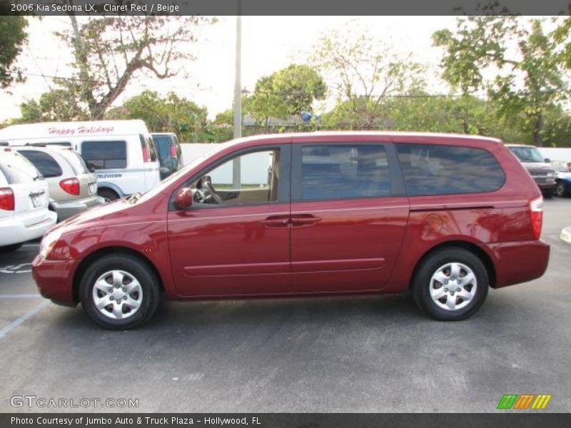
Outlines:
<svg viewBox="0 0 571 428"><path fill-rule="evenodd" d="M97 173L98 195L114 200L161 180L153 138L143 121L42 122L0 129L9 146L71 146Z"/></svg>

